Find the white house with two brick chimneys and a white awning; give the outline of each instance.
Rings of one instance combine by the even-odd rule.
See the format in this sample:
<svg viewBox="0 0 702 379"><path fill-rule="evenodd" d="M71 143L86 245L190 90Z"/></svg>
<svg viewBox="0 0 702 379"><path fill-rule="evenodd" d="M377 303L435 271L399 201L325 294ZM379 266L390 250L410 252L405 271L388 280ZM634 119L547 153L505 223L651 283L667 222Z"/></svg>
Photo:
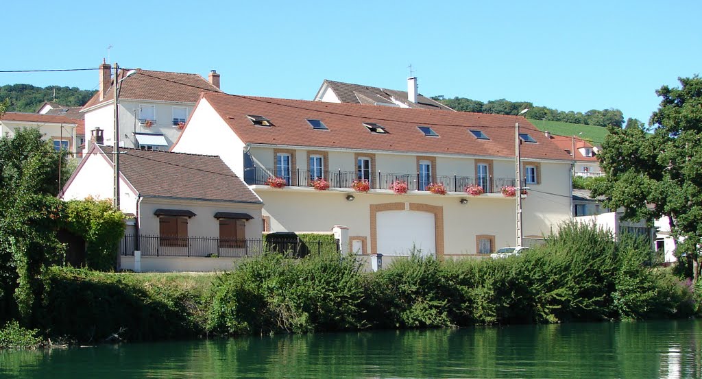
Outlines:
<svg viewBox="0 0 702 379"><path fill-rule="evenodd" d="M114 75L100 65L98 92L84 105L86 131L100 128L105 144L114 140ZM180 135L202 91L219 93L220 74L208 80L198 74L120 69L119 142L122 147L168 149Z"/></svg>

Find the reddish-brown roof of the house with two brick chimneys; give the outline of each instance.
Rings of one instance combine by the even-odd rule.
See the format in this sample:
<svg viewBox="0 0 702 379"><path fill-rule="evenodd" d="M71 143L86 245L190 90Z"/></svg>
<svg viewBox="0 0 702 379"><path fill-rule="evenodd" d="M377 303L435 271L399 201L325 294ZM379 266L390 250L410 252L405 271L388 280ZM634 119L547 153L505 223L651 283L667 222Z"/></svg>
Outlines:
<svg viewBox="0 0 702 379"><path fill-rule="evenodd" d="M119 77L126 75L131 69L121 69ZM180 72L151 71L136 69L136 73L124 79L119 84L119 98L133 100L155 100L162 102L197 102L202 91L221 92L209 81L198 74ZM83 109L93 107L101 102L112 101L112 86L100 100L100 91L88 100Z"/></svg>

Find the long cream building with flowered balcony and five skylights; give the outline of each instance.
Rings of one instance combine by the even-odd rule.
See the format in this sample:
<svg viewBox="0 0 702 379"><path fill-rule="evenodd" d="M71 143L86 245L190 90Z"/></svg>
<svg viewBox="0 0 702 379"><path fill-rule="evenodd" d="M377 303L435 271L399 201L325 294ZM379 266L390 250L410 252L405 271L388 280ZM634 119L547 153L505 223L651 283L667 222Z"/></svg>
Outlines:
<svg viewBox="0 0 702 379"><path fill-rule="evenodd" d="M359 254L485 256L515 246L517 120L523 231L540 238L571 217L571 160L523 118L203 93L171 151L218 154L267 231L345 225Z"/></svg>

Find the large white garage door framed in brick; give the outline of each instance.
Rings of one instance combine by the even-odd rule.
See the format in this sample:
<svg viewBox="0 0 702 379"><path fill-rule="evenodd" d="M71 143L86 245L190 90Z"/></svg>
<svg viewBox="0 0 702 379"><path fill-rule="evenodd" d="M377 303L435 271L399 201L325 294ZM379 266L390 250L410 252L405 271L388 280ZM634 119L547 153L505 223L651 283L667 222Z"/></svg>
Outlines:
<svg viewBox="0 0 702 379"><path fill-rule="evenodd" d="M434 213L383 211L376 215L378 253L409 255L416 247L421 255L435 255Z"/></svg>

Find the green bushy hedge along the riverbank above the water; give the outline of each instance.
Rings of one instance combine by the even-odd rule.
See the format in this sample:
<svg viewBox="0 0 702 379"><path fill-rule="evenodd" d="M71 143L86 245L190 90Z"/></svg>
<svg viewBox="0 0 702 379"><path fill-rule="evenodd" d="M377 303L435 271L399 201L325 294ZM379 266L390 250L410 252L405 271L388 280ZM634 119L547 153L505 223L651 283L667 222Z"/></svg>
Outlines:
<svg viewBox="0 0 702 379"><path fill-rule="evenodd" d="M329 253L271 253L197 277L54 267L41 325L32 327L95 343L113 333L136 341L699 314L689 283L647 266L650 253L643 241L567 225L519 257L412 257L375 273Z"/></svg>

